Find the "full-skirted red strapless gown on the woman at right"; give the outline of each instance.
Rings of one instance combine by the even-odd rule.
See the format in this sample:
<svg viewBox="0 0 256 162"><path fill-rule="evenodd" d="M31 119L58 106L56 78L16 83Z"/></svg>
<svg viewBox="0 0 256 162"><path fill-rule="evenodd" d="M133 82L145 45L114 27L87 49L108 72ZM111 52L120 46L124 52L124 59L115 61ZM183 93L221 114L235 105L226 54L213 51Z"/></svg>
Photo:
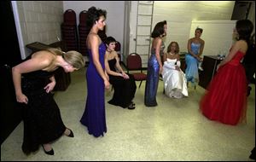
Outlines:
<svg viewBox="0 0 256 162"><path fill-rule="evenodd" d="M237 51L233 59L218 72L201 98L200 109L208 119L236 125L245 121L247 79L240 61L245 54Z"/></svg>

